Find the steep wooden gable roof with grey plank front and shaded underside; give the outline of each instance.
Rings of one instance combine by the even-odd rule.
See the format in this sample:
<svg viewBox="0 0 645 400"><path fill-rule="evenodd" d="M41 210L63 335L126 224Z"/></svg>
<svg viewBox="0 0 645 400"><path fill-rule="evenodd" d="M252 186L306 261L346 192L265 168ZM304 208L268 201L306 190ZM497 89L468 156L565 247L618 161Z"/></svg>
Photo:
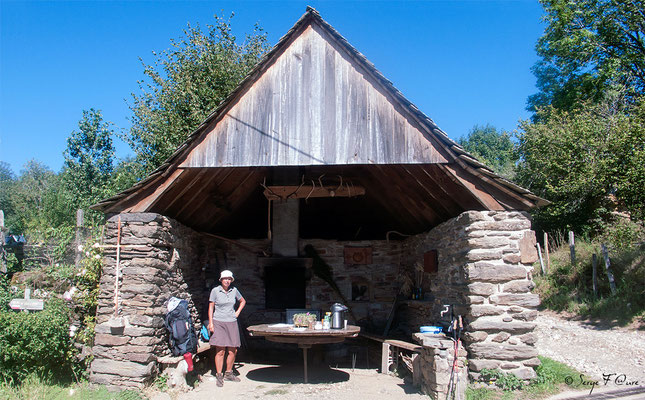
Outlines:
<svg viewBox="0 0 645 400"><path fill-rule="evenodd" d="M303 218L318 225L334 210L335 226L358 218L380 224L374 232L421 232L465 210L546 204L466 153L308 8L164 165L93 208L217 233L246 219L266 226L262 188L293 169L303 183L327 175L365 188L333 206L313 200Z"/></svg>

